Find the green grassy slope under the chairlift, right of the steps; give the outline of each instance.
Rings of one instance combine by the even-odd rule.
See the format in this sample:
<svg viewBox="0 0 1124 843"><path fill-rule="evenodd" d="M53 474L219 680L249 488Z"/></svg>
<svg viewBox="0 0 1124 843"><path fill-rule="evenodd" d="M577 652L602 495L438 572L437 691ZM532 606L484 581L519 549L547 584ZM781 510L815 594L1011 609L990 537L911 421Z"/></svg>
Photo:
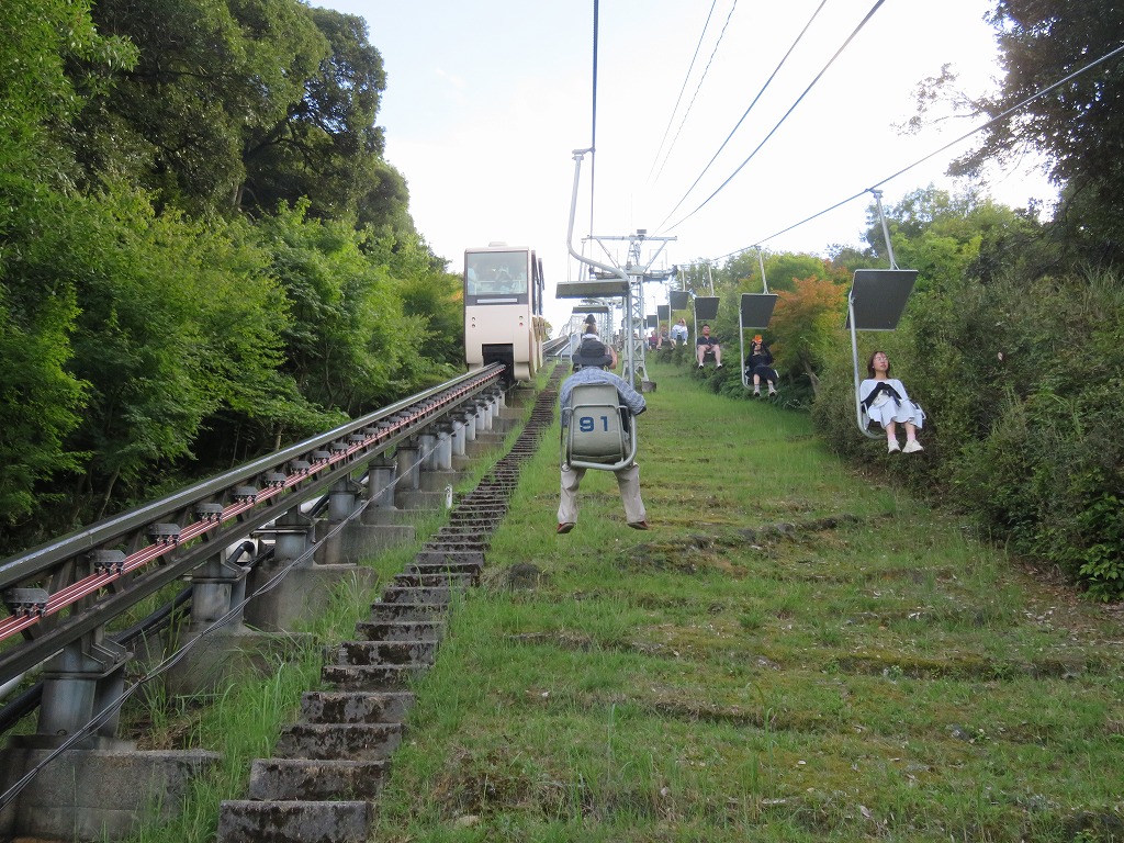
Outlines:
<svg viewBox="0 0 1124 843"><path fill-rule="evenodd" d="M841 465L806 416L650 373L653 529L590 472L555 536L547 433L417 689L378 840L1124 834L1109 615Z"/></svg>

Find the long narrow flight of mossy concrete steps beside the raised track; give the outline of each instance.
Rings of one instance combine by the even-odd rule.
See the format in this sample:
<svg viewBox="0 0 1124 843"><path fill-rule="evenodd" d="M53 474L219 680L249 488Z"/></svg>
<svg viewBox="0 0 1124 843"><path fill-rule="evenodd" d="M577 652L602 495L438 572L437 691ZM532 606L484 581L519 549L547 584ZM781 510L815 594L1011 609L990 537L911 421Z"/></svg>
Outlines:
<svg viewBox="0 0 1124 843"><path fill-rule="evenodd" d="M309 691L301 720L272 759L254 762L250 798L223 804L219 843L362 843L414 697L409 681L435 661L448 607L478 582L491 534L507 515L524 463L554 419L556 366L510 451L464 496L448 522L388 586Z"/></svg>

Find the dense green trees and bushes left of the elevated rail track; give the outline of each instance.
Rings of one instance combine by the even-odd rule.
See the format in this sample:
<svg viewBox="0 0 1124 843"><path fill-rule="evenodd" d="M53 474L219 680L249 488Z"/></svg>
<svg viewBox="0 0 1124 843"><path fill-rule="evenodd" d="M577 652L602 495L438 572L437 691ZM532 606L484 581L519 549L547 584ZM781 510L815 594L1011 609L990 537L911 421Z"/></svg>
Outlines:
<svg viewBox="0 0 1124 843"><path fill-rule="evenodd" d="M0 6L0 552L460 365L361 18Z"/></svg>

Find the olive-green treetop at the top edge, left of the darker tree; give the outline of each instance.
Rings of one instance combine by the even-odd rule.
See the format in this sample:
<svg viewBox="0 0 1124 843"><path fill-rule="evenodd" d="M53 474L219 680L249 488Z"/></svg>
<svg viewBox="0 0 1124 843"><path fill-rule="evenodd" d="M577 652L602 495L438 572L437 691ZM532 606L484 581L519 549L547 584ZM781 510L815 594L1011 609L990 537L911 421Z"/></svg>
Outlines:
<svg viewBox="0 0 1124 843"><path fill-rule="evenodd" d="M75 153L93 183L125 178L193 212L235 203L247 140L302 101L330 54L294 0L99 0L93 15L139 62L83 111Z"/></svg>

